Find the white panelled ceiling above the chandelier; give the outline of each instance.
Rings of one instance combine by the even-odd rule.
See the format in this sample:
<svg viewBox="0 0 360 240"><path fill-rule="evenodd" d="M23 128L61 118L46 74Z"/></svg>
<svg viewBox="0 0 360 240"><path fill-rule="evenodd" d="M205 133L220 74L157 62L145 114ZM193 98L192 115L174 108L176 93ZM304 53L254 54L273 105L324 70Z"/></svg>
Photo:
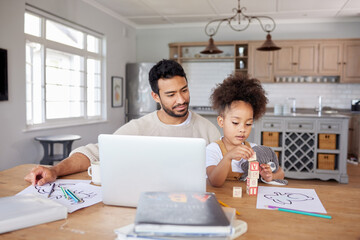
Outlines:
<svg viewBox="0 0 360 240"><path fill-rule="evenodd" d="M230 17L237 0L83 0L135 28L203 24ZM360 19L360 0L241 0L245 14L275 21Z"/></svg>

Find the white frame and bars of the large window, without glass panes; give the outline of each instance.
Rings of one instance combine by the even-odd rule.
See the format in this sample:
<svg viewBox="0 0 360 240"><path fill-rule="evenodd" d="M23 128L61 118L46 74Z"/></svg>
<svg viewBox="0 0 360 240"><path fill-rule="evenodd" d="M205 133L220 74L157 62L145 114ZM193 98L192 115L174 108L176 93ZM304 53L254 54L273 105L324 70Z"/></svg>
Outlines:
<svg viewBox="0 0 360 240"><path fill-rule="evenodd" d="M58 128L58 127L66 127L66 126L76 126L76 125L83 125L83 124L92 124L92 123L98 123L98 122L104 122L106 121L106 77L105 77L105 37L103 34L95 32L93 30L90 30L86 27L80 26L78 24L72 23L66 19L54 16L50 13L44 12L40 9L37 9L35 7L26 5L26 12L29 14L36 15L41 18L41 36L33 36L29 34L25 34L25 46L27 41L38 43L42 45L42 69L41 69L41 75L42 75L42 123L34 124L31 122L28 122L26 120L26 128L25 130L36 130L36 129L44 129L44 128ZM60 24L63 24L65 26L68 26L70 28L76 29L78 31L81 31L84 33L84 47L82 49L72 47L69 45L61 44L58 42L54 42L51 40L48 40L45 38L46 36L46 28L45 28L45 21L51 20ZM90 51L87 51L87 34L90 34L92 36L95 36L100 39L100 52L99 53L93 53ZM46 49L52 49L64 53L69 54L75 54L79 55L84 58L84 72L83 78L84 78L84 102L83 102L83 109L84 109L84 115L81 117L70 117L70 118L57 118L57 119L46 119L46 100L45 100L45 84L46 84ZM99 116L88 116L87 114L87 59L95 59L99 60L101 64L101 109L100 109L100 115ZM31 80L32 81L32 80ZM33 93L32 93L33 95ZM33 96L32 96L33 101ZM32 103L33 104L33 103ZM32 108L33 109L33 108ZM33 113L32 113L33 114ZM34 117L33 117L34 118ZM32 119L33 119L32 118Z"/></svg>

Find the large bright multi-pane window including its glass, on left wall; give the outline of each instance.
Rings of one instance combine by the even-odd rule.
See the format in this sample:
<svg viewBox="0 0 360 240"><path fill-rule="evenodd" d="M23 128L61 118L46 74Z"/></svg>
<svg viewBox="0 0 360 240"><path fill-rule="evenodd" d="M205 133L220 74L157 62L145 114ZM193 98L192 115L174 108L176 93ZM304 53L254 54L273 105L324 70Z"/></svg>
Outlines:
<svg viewBox="0 0 360 240"><path fill-rule="evenodd" d="M103 120L103 36L25 12L27 126Z"/></svg>

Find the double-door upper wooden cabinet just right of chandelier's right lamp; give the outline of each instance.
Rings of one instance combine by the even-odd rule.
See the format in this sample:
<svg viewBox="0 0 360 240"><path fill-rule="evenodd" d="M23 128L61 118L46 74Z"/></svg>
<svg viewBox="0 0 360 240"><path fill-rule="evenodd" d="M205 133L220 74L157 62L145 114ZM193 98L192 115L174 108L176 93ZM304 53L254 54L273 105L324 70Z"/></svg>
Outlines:
<svg viewBox="0 0 360 240"><path fill-rule="evenodd" d="M318 42L277 41L281 50L274 52L275 75L316 75Z"/></svg>

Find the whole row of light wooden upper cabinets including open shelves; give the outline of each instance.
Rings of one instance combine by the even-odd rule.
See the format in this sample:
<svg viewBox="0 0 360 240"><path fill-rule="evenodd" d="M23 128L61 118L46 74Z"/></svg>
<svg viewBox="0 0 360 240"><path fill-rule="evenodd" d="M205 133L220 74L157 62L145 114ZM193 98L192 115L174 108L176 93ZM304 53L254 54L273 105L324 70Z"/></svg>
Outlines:
<svg viewBox="0 0 360 240"><path fill-rule="evenodd" d="M326 82L340 79L340 83L360 83L359 39L281 40L276 41L281 50L273 52L257 51L262 43L218 41L216 46L224 52L216 55L200 54L207 42L170 43L169 58L179 63L234 62L234 71L265 83L275 82L274 76L323 76L327 79L329 76L334 81Z"/></svg>

